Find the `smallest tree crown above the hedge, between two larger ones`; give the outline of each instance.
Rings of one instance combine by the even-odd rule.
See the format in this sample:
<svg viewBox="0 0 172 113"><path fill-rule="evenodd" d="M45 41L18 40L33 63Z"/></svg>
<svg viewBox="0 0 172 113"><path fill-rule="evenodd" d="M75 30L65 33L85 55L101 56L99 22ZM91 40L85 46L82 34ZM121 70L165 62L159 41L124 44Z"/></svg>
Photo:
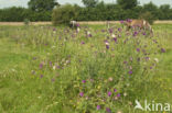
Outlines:
<svg viewBox="0 0 172 113"><path fill-rule="evenodd" d="M82 0L85 7L94 8L97 5L98 0Z"/></svg>

